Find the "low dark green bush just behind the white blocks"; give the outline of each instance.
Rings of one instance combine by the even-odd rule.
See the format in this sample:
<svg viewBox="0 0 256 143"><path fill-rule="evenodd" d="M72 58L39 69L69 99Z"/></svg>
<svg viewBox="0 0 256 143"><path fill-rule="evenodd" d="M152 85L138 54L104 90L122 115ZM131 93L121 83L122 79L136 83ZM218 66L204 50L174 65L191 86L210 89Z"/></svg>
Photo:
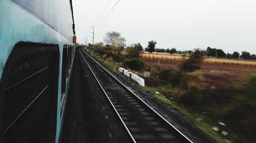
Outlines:
<svg viewBox="0 0 256 143"><path fill-rule="evenodd" d="M145 63L139 59L125 59L123 61L123 66L131 70L141 71L145 67Z"/></svg>

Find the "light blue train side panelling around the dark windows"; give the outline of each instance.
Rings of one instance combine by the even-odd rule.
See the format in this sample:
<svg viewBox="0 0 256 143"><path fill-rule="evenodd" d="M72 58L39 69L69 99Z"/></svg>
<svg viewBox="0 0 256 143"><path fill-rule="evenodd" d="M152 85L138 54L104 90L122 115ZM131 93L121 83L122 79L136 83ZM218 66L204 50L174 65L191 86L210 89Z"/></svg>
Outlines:
<svg viewBox="0 0 256 143"><path fill-rule="evenodd" d="M8 58L17 43L28 42L58 46L59 74L55 142L59 142L62 116L65 111L67 99L66 93L70 84L69 77L72 73L75 53L75 44L73 43L74 35L72 1L70 0L0 0L0 81L3 78ZM71 58L68 57L70 60L68 74L65 79L67 80L65 82L65 96L63 96L60 87L63 84L61 73L63 48L65 47L67 47L67 54Z"/></svg>

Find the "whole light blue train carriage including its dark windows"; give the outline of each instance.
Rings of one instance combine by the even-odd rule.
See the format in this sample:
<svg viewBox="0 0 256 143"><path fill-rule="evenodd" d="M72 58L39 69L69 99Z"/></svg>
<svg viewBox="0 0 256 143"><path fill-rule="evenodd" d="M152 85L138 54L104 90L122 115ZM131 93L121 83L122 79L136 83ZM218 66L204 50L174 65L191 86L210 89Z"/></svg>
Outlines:
<svg viewBox="0 0 256 143"><path fill-rule="evenodd" d="M74 36L71 0L0 0L0 142L60 142Z"/></svg>

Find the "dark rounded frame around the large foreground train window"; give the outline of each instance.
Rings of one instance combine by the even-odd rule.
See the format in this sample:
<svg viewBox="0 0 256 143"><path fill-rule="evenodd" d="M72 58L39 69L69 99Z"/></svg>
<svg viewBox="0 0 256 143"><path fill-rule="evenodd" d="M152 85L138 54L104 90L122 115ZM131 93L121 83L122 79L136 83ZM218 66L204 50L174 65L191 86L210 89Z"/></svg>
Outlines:
<svg viewBox="0 0 256 143"><path fill-rule="evenodd" d="M49 100L51 107L53 108L50 112L51 121L49 127L50 129L49 140L55 141L55 134L57 129L57 99L58 99L58 74L59 74L59 47L53 44L41 44L41 43L31 43L31 42L19 42L12 49L9 58L6 62L5 69L2 74L2 79L0 81L0 142L4 141L4 97L5 90L7 88L9 76L12 74L15 62L18 60L33 60L38 56L48 56L49 60ZM51 62L50 62L51 61ZM53 95L53 96L51 96ZM22 115L24 116L24 115Z"/></svg>

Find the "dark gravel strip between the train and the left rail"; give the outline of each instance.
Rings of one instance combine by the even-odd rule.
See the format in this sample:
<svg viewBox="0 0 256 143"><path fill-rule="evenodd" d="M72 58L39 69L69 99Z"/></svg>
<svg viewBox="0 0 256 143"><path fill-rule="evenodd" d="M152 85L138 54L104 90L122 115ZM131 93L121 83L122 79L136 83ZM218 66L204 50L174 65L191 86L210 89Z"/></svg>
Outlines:
<svg viewBox="0 0 256 143"><path fill-rule="evenodd" d="M78 49L61 142L132 142Z"/></svg>

